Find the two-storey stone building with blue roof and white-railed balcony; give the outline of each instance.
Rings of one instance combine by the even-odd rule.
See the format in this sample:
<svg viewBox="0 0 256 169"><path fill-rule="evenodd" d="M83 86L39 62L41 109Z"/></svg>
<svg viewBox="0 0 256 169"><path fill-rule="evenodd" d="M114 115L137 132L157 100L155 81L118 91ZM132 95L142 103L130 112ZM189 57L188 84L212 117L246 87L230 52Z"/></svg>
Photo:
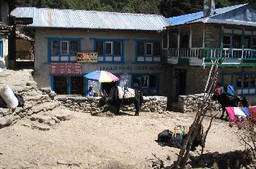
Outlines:
<svg viewBox="0 0 256 169"><path fill-rule="evenodd" d="M212 3L213 1L211 1ZM203 93L211 60L222 61L219 83L255 103L256 10L249 4L170 17L162 55L172 68L172 95ZM205 6L206 7L206 6Z"/></svg>

